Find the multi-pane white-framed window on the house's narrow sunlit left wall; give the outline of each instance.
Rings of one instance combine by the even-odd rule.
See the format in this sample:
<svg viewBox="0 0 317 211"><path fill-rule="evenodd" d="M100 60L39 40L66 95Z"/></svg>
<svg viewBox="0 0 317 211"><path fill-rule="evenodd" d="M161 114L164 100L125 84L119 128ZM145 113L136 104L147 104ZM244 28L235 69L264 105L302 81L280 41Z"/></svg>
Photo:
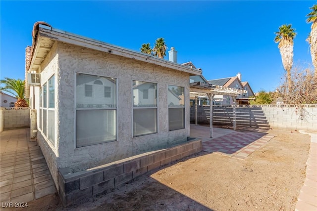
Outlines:
<svg viewBox="0 0 317 211"><path fill-rule="evenodd" d="M40 129L54 145L55 142L55 77L40 88Z"/></svg>

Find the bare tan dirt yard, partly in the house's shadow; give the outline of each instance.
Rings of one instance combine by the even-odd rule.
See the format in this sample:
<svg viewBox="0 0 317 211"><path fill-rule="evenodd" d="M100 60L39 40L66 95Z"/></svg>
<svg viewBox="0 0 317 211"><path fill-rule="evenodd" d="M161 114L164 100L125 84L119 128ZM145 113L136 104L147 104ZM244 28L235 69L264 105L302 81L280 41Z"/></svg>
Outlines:
<svg viewBox="0 0 317 211"><path fill-rule="evenodd" d="M305 179L310 136L268 133L275 137L244 160L201 152L80 205L65 209L51 195L26 210L292 211Z"/></svg>

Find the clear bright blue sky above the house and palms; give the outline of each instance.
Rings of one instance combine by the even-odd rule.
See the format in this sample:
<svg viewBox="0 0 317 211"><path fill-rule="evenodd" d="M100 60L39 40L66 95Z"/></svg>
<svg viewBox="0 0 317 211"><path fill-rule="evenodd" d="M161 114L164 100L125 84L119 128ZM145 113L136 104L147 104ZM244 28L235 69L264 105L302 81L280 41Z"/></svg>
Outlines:
<svg viewBox="0 0 317 211"><path fill-rule="evenodd" d="M294 64L311 64L305 41L316 1L0 1L0 78L24 79L25 47L36 21L139 51L164 38L178 51L177 62L192 61L203 76L242 74L254 92L273 91L284 74L274 32L292 24ZM166 51L165 59L168 59Z"/></svg>

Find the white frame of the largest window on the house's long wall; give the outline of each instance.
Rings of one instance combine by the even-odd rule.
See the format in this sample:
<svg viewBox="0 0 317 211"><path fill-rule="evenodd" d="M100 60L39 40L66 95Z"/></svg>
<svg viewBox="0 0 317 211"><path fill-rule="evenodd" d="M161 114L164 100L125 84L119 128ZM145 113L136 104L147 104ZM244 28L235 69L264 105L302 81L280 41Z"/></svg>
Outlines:
<svg viewBox="0 0 317 211"><path fill-rule="evenodd" d="M88 107L88 108L77 108L77 75L88 75L88 76L94 76L94 77L103 77L103 78L113 78L115 79L115 107L109 107L109 108L102 108L102 107ZM101 84L94 84L94 85L101 85ZM111 87L111 86L110 86ZM94 86L93 86L94 91ZM105 93L104 93L105 94ZM85 94L86 95L86 94ZM87 96L86 96L87 97ZM92 96L94 97L94 95ZM85 145L81 147L77 147L77 111L78 110L115 110L115 139L111 141L105 141L102 143L96 143L96 144L90 144ZM99 75L99 74L87 74L83 72L74 72L74 149L80 149L84 147L93 147L100 144L106 144L111 143L118 140L118 78L112 77L112 76L105 76L105 75Z"/></svg>

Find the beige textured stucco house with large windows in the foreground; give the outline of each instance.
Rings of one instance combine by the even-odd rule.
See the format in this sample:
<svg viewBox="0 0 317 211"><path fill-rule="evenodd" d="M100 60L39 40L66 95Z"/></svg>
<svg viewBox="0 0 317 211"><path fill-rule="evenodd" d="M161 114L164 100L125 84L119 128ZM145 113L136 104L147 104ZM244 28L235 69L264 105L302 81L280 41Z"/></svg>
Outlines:
<svg viewBox="0 0 317 211"><path fill-rule="evenodd" d="M42 24L26 48L26 73L41 83L30 89L26 80L26 97L57 188L60 168L77 172L187 140L188 82L201 70Z"/></svg>

